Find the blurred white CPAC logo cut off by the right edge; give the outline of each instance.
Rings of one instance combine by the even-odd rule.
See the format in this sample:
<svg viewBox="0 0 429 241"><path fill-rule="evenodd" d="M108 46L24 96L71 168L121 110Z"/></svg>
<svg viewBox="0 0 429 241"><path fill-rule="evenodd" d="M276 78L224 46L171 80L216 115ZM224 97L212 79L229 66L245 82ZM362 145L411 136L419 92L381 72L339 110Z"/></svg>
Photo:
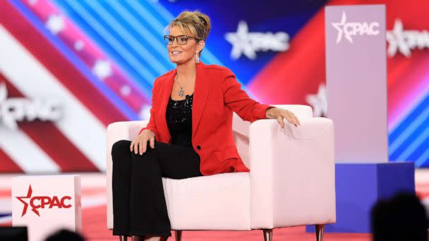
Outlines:
<svg viewBox="0 0 429 241"><path fill-rule="evenodd" d="M387 42L387 55L393 57L397 51L404 56L411 56L412 49L429 48L429 32L428 30L404 30L402 21L397 19L394 21L393 30L386 32Z"/></svg>

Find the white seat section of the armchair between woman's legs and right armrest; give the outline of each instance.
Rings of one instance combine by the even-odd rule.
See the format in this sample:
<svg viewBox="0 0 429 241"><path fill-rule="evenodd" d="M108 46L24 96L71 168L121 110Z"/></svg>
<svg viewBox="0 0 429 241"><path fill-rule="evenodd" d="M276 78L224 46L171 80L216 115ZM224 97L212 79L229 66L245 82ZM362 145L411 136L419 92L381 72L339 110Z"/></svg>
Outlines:
<svg viewBox="0 0 429 241"><path fill-rule="evenodd" d="M162 178L172 230L250 230L249 173Z"/></svg>

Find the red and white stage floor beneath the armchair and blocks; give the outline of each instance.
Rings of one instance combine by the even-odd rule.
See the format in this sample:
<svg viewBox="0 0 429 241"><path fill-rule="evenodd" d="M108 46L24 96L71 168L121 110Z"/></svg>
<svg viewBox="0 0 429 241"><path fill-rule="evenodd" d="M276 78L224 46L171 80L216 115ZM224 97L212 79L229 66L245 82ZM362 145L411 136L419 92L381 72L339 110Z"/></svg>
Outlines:
<svg viewBox="0 0 429 241"><path fill-rule="evenodd" d="M78 173L82 183L83 235L86 240L119 240L111 235L106 224L106 178L102 173ZM0 225L12 225L11 178L16 175L0 175ZM429 170L416 171L416 192L429 208ZM429 210L429 209L428 209ZM174 240L174 232L171 232ZM261 230L252 231L184 231L183 240L263 240ZM370 234L325 233L326 240L370 241ZM273 240L315 240L314 233L306 233L304 226L276 228Z"/></svg>

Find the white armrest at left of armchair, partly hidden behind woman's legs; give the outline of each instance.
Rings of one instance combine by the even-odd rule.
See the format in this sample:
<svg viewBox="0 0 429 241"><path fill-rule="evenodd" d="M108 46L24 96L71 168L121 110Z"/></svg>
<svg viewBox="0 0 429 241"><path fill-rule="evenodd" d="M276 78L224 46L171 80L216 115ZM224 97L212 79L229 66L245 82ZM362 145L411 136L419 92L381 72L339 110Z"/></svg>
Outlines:
<svg viewBox="0 0 429 241"><path fill-rule="evenodd" d="M149 121L121 121L107 126L107 228L113 228L113 206L111 196L111 147L119 140L132 140Z"/></svg>

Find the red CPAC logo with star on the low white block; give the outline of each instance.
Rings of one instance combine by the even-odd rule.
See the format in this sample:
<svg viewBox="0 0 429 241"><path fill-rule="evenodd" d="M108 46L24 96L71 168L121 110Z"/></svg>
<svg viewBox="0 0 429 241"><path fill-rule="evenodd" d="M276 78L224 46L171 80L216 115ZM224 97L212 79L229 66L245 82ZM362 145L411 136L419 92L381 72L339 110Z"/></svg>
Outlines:
<svg viewBox="0 0 429 241"><path fill-rule="evenodd" d="M31 206L31 211L33 213L37 214L37 216L40 216L39 210L37 209L52 209L54 207L57 207L59 209L69 209L71 208L71 197L70 196L64 196L59 199L58 196L54 197L47 197L47 196L35 196L31 197L32 189L31 185L28 187L27 196L25 197L16 197L20 202L24 204L23 209L23 215L24 216L27 213L28 206ZM25 202L23 199L29 199L27 202Z"/></svg>

